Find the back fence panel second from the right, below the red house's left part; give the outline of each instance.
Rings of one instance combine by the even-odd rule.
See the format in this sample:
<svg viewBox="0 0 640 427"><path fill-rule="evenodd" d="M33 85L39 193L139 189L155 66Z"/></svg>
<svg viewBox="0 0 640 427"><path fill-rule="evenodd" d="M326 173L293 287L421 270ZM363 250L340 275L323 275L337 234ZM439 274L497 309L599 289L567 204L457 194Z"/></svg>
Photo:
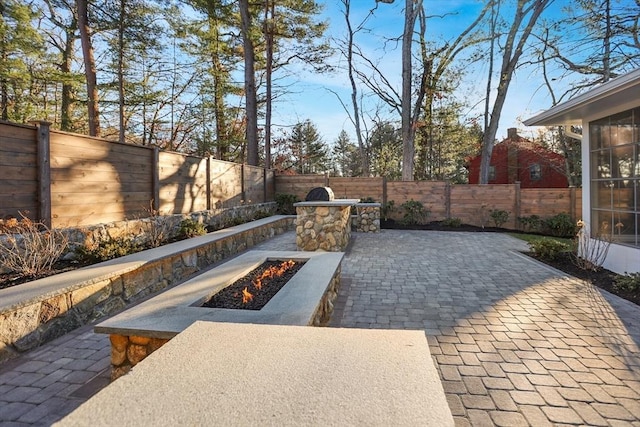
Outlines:
<svg viewBox="0 0 640 427"><path fill-rule="evenodd" d="M515 185L451 186L451 217L476 226L494 226L491 210L504 210L509 220L504 228L516 228L517 187Z"/></svg>

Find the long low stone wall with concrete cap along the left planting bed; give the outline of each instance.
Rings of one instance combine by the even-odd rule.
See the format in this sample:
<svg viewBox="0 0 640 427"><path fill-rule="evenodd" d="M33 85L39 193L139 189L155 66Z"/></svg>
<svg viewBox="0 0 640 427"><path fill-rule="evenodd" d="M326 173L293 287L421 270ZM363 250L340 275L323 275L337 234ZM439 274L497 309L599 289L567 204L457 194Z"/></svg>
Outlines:
<svg viewBox="0 0 640 427"><path fill-rule="evenodd" d="M291 230L293 222L290 216L265 218L0 289L0 362Z"/></svg>

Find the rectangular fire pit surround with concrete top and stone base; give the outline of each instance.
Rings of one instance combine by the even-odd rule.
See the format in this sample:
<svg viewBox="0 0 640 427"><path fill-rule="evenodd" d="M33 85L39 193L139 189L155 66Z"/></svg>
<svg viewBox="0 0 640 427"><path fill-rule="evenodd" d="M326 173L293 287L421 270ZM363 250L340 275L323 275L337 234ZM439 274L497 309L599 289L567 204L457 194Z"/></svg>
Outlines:
<svg viewBox="0 0 640 427"><path fill-rule="evenodd" d="M112 379L128 372L198 320L326 325L337 298L343 256L338 252L249 251L105 320L95 331L110 335ZM221 290L266 261L274 260L279 263L292 260L304 265L261 309L203 307Z"/></svg>

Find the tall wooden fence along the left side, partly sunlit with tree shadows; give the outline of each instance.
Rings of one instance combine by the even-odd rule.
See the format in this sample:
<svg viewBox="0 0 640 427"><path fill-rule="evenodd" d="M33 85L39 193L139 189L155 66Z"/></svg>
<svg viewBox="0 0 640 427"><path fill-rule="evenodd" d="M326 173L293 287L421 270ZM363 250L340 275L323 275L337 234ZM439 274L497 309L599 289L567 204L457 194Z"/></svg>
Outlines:
<svg viewBox="0 0 640 427"><path fill-rule="evenodd" d="M273 171L0 122L0 218L53 227L272 201Z"/></svg>

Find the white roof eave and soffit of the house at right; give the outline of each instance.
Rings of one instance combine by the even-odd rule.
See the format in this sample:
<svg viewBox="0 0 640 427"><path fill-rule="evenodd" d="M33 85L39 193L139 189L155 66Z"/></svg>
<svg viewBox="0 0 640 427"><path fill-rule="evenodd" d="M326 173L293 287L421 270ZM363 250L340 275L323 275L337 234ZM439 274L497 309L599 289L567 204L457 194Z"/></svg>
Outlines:
<svg viewBox="0 0 640 427"><path fill-rule="evenodd" d="M588 92L551 107L524 121L526 126L582 124L585 117L598 116L620 105L640 102L640 69L601 84Z"/></svg>

